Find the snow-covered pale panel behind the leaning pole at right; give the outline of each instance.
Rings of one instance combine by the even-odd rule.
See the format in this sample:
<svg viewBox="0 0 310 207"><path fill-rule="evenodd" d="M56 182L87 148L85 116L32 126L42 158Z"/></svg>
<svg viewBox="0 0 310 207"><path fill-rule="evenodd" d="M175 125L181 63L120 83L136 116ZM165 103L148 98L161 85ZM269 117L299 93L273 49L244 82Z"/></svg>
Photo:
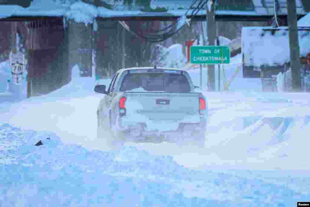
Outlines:
<svg viewBox="0 0 310 207"><path fill-rule="evenodd" d="M299 28L298 34L300 56L306 56L310 53L310 27ZM289 62L288 28L243 27L242 54L247 66L277 66Z"/></svg>

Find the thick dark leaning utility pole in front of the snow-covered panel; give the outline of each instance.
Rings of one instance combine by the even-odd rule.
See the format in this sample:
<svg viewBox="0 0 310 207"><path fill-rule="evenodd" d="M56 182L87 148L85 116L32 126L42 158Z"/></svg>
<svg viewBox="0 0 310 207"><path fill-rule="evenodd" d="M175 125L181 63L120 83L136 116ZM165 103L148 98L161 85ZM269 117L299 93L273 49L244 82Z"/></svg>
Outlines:
<svg viewBox="0 0 310 207"><path fill-rule="evenodd" d="M287 3L287 22L290 38L290 66L292 74L292 88L294 92L301 91L300 77L300 51L298 42L296 0L286 0Z"/></svg>

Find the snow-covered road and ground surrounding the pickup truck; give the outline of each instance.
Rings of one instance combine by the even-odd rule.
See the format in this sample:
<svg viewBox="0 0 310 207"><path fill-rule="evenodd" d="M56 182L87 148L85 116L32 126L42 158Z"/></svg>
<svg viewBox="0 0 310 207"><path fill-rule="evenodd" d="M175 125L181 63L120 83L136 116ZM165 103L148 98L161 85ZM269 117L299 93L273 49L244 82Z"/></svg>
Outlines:
<svg viewBox="0 0 310 207"><path fill-rule="evenodd" d="M195 71L191 73L197 79ZM108 84L109 80L102 80ZM310 95L204 92L206 148L103 151L91 78L1 104L0 206L296 206L310 201ZM48 139L47 139L48 138ZM34 146L42 140L42 146Z"/></svg>

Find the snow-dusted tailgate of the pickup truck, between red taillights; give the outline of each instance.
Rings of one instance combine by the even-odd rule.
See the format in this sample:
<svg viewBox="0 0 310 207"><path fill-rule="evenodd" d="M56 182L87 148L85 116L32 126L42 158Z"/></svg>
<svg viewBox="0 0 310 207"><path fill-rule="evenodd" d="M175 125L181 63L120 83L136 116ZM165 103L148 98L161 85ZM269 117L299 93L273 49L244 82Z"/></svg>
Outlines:
<svg viewBox="0 0 310 207"><path fill-rule="evenodd" d="M200 121L199 93L125 92L127 116L149 120Z"/></svg>

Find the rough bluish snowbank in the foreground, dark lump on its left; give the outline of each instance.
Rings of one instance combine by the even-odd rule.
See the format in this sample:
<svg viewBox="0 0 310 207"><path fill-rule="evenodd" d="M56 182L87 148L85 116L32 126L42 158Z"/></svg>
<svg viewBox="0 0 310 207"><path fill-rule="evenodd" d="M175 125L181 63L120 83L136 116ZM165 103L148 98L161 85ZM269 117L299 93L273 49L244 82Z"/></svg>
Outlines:
<svg viewBox="0 0 310 207"><path fill-rule="evenodd" d="M1 125L0 132L0 205L4 207L293 206L309 196L307 177L264 178L260 172L258 177L243 178L232 172L188 169L172 156L152 155L132 146L88 151L64 145L51 132L8 124ZM39 140L43 145L34 146Z"/></svg>

